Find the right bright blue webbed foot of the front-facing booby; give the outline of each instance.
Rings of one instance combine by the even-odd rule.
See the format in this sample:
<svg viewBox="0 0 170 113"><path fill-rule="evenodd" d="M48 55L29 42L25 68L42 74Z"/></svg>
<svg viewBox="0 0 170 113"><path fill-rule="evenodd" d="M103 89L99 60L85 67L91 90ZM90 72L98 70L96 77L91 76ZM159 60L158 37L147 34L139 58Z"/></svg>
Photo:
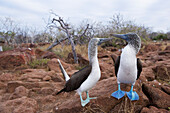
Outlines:
<svg viewBox="0 0 170 113"><path fill-rule="evenodd" d="M129 92L126 92L126 94L128 98L132 101L139 100L139 95L135 91L133 91L133 85L131 86L131 90Z"/></svg>

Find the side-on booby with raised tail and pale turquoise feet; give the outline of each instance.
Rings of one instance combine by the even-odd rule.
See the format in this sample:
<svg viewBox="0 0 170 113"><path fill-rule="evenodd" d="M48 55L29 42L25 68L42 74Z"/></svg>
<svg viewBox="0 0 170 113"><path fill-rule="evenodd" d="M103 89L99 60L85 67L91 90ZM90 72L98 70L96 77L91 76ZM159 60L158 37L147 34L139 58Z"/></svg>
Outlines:
<svg viewBox="0 0 170 113"><path fill-rule="evenodd" d="M101 72L99 67L99 62L97 58L97 46L103 42L109 41L113 38L93 38L90 40L88 45L88 57L89 57L89 65L74 73L71 78L67 75L64 70L62 64L59 61L60 69L65 77L66 84L64 88L59 91L57 94L61 92L70 92L76 90L80 95L81 105L85 106L90 102L90 99L96 99L89 97L89 90L97 83L100 79ZM81 94L82 92L86 92L87 98L83 100Z"/></svg>

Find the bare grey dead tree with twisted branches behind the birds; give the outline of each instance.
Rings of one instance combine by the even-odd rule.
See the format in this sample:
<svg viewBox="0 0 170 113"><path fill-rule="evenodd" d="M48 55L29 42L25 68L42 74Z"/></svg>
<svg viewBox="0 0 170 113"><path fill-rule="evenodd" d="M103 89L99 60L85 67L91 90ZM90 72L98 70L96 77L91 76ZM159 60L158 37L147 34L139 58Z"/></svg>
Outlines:
<svg viewBox="0 0 170 113"><path fill-rule="evenodd" d="M52 45L50 45L47 50L51 50L54 46L58 45L60 42L69 40L71 47L72 47L72 53L74 57L74 63L78 63L78 58L75 50L75 43L74 41L76 39L79 39L80 37L88 37L86 34L89 32L89 29L92 29L89 27L89 24L87 24L86 28L81 34L75 35L69 24L67 24L60 16L54 14L57 18L53 18L52 23L49 25L50 28L57 28L59 31L63 31L66 34L66 38L62 38L60 40L56 40ZM59 25L58 25L59 24ZM89 33L90 34L90 33ZM92 38L93 35L90 35L90 38Z"/></svg>

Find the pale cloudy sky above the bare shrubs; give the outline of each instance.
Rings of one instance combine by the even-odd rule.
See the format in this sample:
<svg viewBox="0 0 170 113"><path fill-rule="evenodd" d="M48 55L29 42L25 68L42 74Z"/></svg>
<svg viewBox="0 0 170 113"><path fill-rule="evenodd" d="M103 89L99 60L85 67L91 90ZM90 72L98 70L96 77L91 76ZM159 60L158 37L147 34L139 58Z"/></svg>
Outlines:
<svg viewBox="0 0 170 113"><path fill-rule="evenodd" d="M83 20L107 23L120 13L153 31L170 31L170 0L0 0L0 17L40 29L51 10L74 25Z"/></svg>

